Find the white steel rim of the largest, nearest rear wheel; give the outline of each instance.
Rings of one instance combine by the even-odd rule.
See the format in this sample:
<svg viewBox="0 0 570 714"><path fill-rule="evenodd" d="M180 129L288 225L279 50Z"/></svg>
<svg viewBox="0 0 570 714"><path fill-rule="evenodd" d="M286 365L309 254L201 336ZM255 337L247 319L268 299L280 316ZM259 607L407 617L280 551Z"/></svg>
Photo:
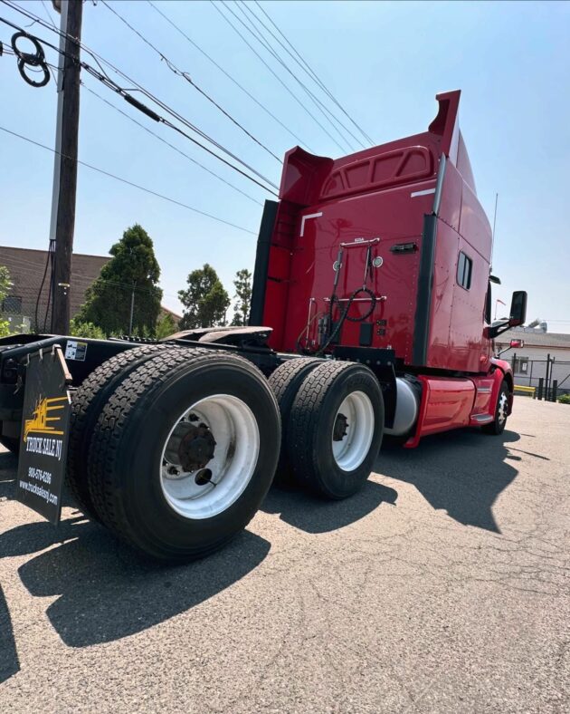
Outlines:
<svg viewBox="0 0 570 714"><path fill-rule="evenodd" d="M208 483L199 482L204 468L185 471L166 458L176 427L185 421L205 424L214 437L214 457L204 467L211 472ZM230 394L214 394L196 401L176 419L166 437L159 467L162 493L180 516L217 516L242 495L252 479L259 452L257 420L244 401ZM176 475L173 469L178 471Z"/></svg>

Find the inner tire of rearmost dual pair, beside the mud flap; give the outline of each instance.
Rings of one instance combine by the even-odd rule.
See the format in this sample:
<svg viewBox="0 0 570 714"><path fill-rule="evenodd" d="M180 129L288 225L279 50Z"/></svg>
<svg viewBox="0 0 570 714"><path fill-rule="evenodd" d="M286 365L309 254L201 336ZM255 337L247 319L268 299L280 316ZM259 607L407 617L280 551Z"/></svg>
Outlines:
<svg viewBox="0 0 570 714"><path fill-rule="evenodd" d="M120 352L92 371L71 398L65 483L82 513L93 520L99 520L99 516L93 507L87 483L87 458L93 429L100 412L112 392L131 371L164 349L164 345L147 344Z"/></svg>

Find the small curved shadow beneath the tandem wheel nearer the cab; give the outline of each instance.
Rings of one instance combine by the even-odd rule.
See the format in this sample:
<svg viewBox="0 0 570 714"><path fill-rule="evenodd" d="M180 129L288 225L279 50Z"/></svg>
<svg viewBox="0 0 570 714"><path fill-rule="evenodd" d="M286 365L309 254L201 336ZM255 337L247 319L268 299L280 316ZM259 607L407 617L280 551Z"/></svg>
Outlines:
<svg viewBox="0 0 570 714"><path fill-rule="evenodd" d="M394 505L398 497L394 488L366 481L356 496L345 501L326 501L301 489L290 491L271 488L261 510L280 514L280 519L307 533L328 533L355 523L382 503Z"/></svg>

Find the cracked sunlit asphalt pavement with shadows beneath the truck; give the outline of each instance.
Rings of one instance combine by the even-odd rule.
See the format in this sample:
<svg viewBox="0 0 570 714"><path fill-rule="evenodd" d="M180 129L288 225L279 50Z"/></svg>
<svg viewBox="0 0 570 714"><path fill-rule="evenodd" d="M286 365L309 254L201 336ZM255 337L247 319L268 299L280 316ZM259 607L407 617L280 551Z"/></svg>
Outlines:
<svg viewBox="0 0 570 714"><path fill-rule="evenodd" d="M0 454L0 709L568 711L570 407L515 409L383 449L345 502L272 491L179 567L42 522Z"/></svg>

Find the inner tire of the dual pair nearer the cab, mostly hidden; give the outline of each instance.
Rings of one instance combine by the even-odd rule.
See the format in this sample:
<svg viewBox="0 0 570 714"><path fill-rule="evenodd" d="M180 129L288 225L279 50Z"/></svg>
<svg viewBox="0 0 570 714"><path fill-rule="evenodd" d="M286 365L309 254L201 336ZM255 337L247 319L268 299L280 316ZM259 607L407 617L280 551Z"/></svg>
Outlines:
<svg viewBox="0 0 570 714"><path fill-rule="evenodd" d="M293 400L297 396L300 385L310 371L314 370L322 360L299 357L283 362L269 378L271 389L279 404L281 417L281 448L280 457L275 471L273 483L280 488L290 488L295 483L287 453L288 423Z"/></svg>

